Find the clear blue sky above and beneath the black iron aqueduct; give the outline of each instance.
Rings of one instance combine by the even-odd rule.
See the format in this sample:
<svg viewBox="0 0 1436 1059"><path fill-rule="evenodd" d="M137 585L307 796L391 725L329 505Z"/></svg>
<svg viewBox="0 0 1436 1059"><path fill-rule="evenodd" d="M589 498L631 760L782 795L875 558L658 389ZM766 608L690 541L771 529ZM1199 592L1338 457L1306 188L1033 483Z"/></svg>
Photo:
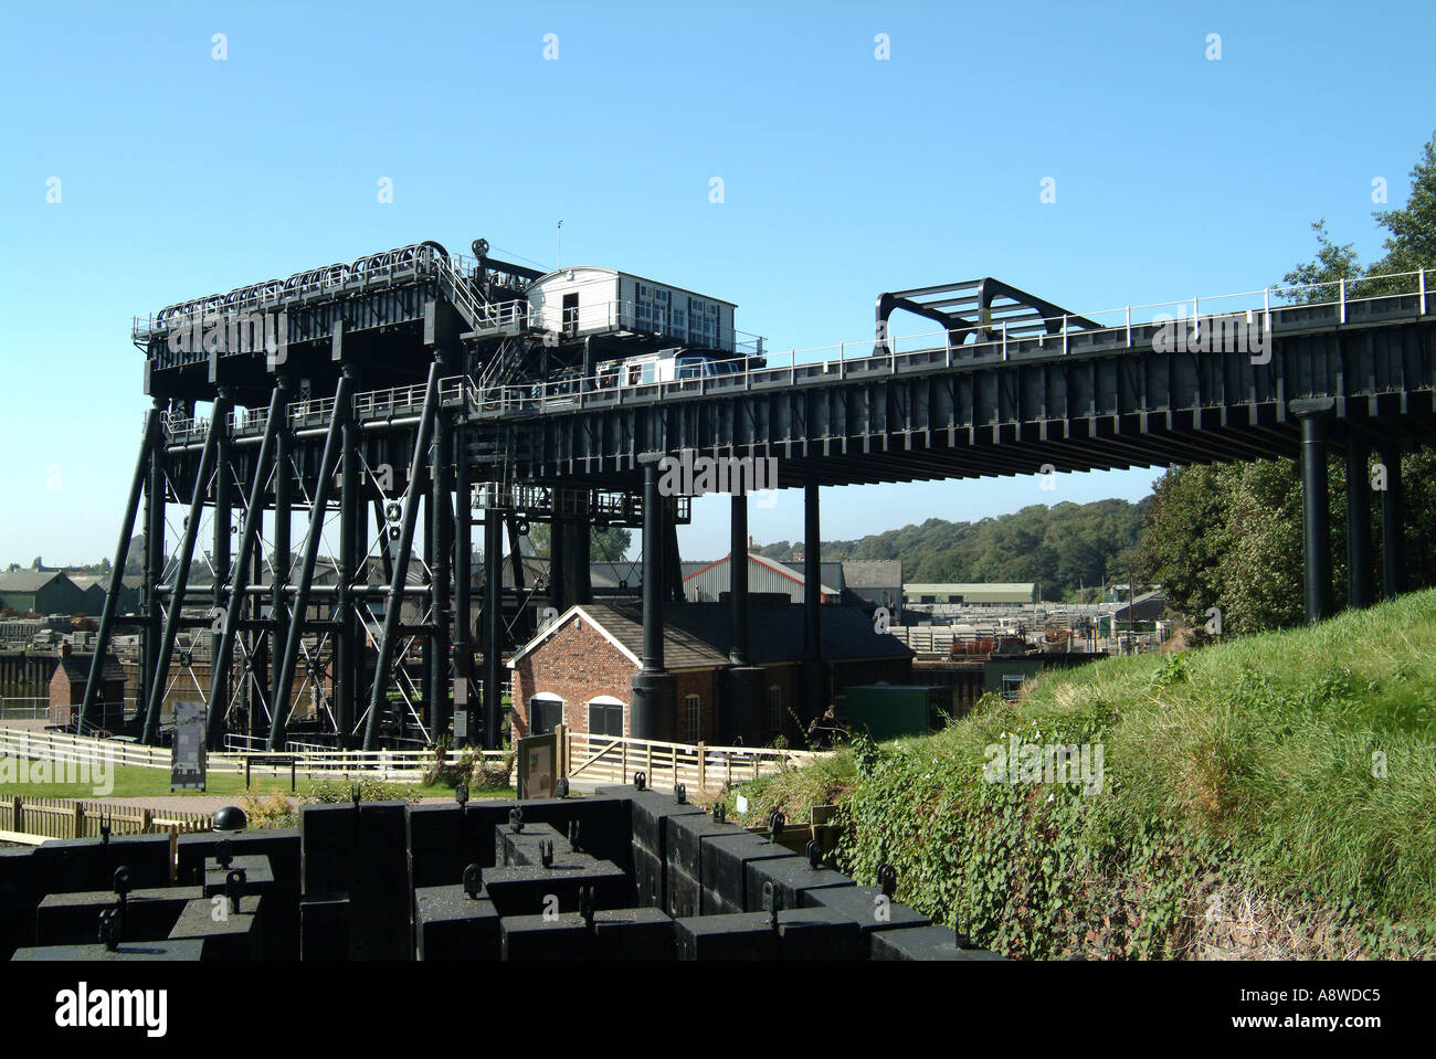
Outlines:
<svg viewBox="0 0 1436 1059"><path fill-rule="evenodd" d="M784 349L870 336L879 291L978 276L1074 310L1252 290L1311 255L1318 217L1371 257L1371 179L1403 201L1436 128L1433 22L1429 3L11 4L0 561L111 552L146 403L132 314L424 238L549 265L561 218L566 263L728 298ZM823 535L1153 478L833 489ZM727 551L724 505L699 505L686 555ZM763 541L800 528L796 492L752 515Z"/></svg>

